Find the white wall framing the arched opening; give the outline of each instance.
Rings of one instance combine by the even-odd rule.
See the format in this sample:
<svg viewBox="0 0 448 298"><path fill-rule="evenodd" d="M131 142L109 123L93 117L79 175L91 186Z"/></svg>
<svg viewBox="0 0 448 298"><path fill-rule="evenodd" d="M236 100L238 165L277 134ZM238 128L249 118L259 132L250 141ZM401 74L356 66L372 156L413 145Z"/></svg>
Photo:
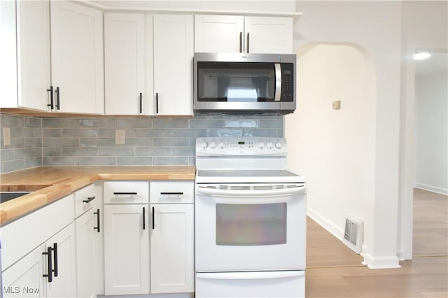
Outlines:
<svg viewBox="0 0 448 298"><path fill-rule="evenodd" d="M365 170L374 171L373 185L370 185L374 193L363 198L364 218L360 218L365 222L363 255L370 268L398 267L396 252L401 3L297 1L296 10L302 11L303 16L295 24L295 50L311 42L354 43L365 50L365 57L370 57L374 65L374 92L368 94L375 98L372 129L374 159L370 159L370 169ZM297 108L302 107L299 104ZM295 118L295 114L286 118ZM296 129L295 125L286 122L286 134L289 129ZM308 144L301 143L301 146ZM291 150L294 152L294 148ZM290 166L294 167L291 164ZM341 168L340 175L353 177L349 169ZM300 172L300 169L297 171ZM368 188L364 188L363 193L367 192ZM342 199L340 204L348 206L350 202ZM321 215L323 218L339 218L331 224L342 229L340 218L345 216L345 212L334 214L333 211L327 211Z"/></svg>

